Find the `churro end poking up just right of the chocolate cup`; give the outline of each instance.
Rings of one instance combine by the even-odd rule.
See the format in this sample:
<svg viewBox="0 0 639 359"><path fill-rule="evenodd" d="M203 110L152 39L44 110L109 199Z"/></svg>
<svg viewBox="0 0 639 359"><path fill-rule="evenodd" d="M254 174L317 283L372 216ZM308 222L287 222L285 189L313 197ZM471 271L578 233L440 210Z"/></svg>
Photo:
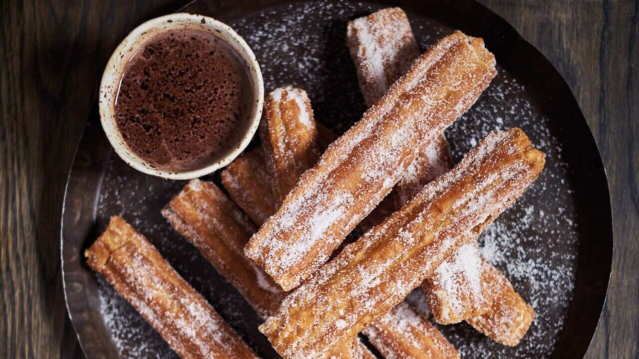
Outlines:
<svg viewBox="0 0 639 359"><path fill-rule="evenodd" d="M303 89L278 88L266 97L260 137L267 169L272 173L273 197L279 206L320 155L311 100Z"/></svg>

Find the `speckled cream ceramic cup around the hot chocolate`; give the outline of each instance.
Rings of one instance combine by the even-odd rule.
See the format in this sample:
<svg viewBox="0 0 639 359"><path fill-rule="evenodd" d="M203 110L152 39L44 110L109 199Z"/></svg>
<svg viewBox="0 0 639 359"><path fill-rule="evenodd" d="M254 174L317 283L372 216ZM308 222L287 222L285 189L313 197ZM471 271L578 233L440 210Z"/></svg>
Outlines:
<svg viewBox="0 0 639 359"><path fill-rule="evenodd" d="M229 150L226 151L226 153L220 153L219 155L216 155L215 158L212 158L212 164L199 169L181 172L169 172L157 169L135 155L135 153L128 148L127 143L123 140L118 130L118 126L116 125L114 115L114 100L116 95L118 95L119 82L128 61L134 56L135 52L137 52L144 43L153 38L153 36L173 29L199 29L210 31L215 34L215 36L224 40L224 42L231 46L245 62L245 66L249 71L249 76L252 80L253 95L255 98L255 103L251 110L252 114L250 115L248 125L243 128L245 134L241 137L238 136L238 138L241 138L240 141L236 143L235 146L229 146ZM113 52L113 55L111 56L111 59L109 59L109 63L107 63L107 67L104 70L102 83L100 84L100 121L102 122L102 128L104 128L104 132L107 134L109 142L111 142L111 146L113 146L116 153L118 153L118 156L130 166L140 172L162 178L192 179L204 176L205 174L210 174L217 169L226 166L246 148L258 128L259 119L262 115L263 102L264 82L262 80L262 73L259 70L258 61L252 50L249 48L249 45L244 42L240 35L226 24L210 17L190 13L175 13L172 15L158 17L157 19L148 20L147 22L144 22L144 24L136 27Z"/></svg>

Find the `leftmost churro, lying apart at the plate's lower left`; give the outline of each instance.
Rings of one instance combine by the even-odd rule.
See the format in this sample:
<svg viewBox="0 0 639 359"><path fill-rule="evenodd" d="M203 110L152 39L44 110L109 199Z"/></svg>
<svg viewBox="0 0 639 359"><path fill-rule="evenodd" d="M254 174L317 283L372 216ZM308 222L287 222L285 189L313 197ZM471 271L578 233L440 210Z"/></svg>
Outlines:
<svg viewBox="0 0 639 359"><path fill-rule="evenodd" d="M258 358L123 218L112 217L84 255L182 358Z"/></svg>

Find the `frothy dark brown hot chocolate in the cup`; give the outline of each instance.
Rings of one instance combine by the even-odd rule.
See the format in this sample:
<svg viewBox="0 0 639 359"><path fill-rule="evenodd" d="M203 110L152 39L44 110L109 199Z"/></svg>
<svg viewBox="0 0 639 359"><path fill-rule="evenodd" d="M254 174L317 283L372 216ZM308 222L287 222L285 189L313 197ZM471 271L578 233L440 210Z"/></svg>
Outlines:
<svg viewBox="0 0 639 359"><path fill-rule="evenodd" d="M240 141L254 102L242 59L212 33L170 30L128 62L115 100L128 148L165 171L204 167Z"/></svg>

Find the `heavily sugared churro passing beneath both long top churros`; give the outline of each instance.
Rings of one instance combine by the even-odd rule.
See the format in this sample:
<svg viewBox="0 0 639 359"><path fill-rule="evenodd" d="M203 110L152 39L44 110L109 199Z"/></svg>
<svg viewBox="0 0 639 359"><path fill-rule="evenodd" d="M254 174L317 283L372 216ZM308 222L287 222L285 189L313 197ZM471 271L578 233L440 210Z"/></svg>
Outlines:
<svg viewBox="0 0 639 359"><path fill-rule="evenodd" d="M408 18L399 8L383 9L349 22L346 43L357 68L362 94L369 105L383 95L389 83L403 74L397 70L407 69L407 59L412 61L411 56L414 58L419 54ZM358 225L362 232L379 224L410 201L426 183L452 167L443 133L430 142L420 143L417 151L416 158L393 191ZM429 307L438 323L457 323L478 316L490 308L493 298L487 297L484 289L486 282L481 279L483 276L479 276L479 286L471 279L481 273L479 253L473 258L477 260L469 265L468 261L459 260L459 254L450 257L435 271L431 279L422 284ZM471 282L475 285L471 286ZM484 326L489 323L493 321L484 321Z"/></svg>

